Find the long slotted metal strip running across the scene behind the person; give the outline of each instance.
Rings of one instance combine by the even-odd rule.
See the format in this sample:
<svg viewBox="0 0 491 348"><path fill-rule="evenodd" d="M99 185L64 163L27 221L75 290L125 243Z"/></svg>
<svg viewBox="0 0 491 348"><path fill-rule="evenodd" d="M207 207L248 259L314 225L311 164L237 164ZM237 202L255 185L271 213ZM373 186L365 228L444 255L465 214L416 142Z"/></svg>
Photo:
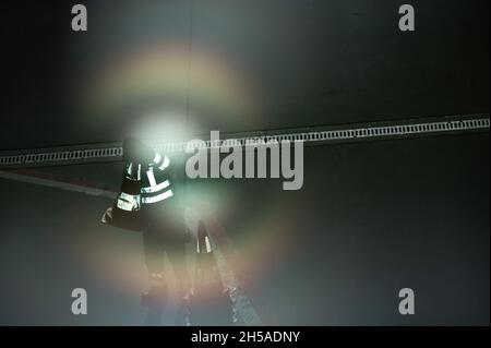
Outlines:
<svg viewBox="0 0 491 348"><path fill-rule="evenodd" d="M261 146L272 142L304 142L308 145L330 143L410 139L445 133L489 131L489 113L445 116L436 118L370 122L331 127L312 127L288 130L267 130L221 134L223 140L204 140L194 143L194 148L240 145ZM209 134L206 135L209 137ZM196 136L196 139L200 136ZM189 140L169 143L152 143L165 153L185 152ZM1 168L25 168L39 166L63 166L73 164L118 161L122 157L121 143L85 144L52 148L0 152Z"/></svg>

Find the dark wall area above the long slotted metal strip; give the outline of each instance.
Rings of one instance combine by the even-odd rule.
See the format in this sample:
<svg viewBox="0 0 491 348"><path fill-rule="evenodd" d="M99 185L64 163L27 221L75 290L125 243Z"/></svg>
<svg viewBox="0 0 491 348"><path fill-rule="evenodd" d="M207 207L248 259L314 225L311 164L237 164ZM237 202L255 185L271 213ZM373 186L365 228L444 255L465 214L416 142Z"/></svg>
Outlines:
<svg viewBox="0 0 491 348"><path fill-rule="evenodd" d="M83 3L86 33L70 1L2 5L0 147L120 140L151 106L200 132L489 111L486 0L411 1L414 33L392 0Z"/></svg>

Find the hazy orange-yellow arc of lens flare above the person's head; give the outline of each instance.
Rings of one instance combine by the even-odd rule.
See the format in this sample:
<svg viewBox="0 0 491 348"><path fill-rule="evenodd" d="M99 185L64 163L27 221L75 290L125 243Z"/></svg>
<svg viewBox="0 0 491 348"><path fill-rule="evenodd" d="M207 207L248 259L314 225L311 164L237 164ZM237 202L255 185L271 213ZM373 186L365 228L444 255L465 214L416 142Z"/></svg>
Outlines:
<svg viewBox="0 0 491 348"><path fill-rule="evenodd" d="M171 109L202 124L202 131L240 130L258 123L255 91L250 76L224 57L205 49L153 46L89 72L83 104L96 124Z"/></svg>

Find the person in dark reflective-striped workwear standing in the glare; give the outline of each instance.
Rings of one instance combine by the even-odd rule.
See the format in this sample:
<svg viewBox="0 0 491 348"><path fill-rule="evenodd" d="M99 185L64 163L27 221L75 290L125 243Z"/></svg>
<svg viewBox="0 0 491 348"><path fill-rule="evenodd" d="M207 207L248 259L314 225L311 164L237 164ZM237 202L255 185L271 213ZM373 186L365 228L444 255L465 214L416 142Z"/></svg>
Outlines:
<svg viewBox="0 0 491 348"><path fill-rule="evenodd" d="M178 291L187 300L191 287L185 243L190 233L173 187L171 160L132 137L123 142L123 160L121 190L104 214L103 223L143 232L151 281L165 283L164 254L167 253L178 280Z"/></svg>

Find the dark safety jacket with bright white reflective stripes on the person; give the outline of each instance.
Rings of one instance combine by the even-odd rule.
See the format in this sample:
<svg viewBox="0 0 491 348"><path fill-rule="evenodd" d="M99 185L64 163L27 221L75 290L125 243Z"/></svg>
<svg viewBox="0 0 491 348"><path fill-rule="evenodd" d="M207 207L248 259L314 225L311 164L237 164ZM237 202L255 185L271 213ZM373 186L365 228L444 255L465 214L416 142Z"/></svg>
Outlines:
<svg viewBox="0 0 491 348"><path fill-rule="evenodd" d="M145 206L163 205L173 200L170 159L166 155L153 153L149 163L125 163L120 193L104 214L103 223L140 231Z"/></svg>

